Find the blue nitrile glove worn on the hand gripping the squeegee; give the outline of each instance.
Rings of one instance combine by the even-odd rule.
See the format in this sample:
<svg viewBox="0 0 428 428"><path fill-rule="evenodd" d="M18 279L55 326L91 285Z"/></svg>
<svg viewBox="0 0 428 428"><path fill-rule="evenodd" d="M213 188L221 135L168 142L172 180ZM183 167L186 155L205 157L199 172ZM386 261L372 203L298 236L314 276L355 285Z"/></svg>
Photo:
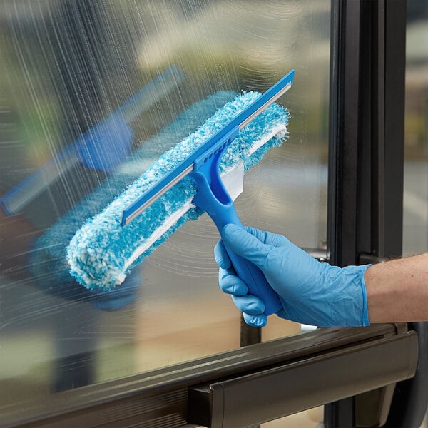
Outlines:
<svg viewBox="0 0 428 428"><path fill-rule="evenodd" d="M225 225L221 236L214 249L220 288L232 295L248 325L266 324L265 305L247 294L247 286L230 266L223 241L265 274L282 303L279 317L319 327L370 325L364 282L370 265L341 268L320 263L285 236L255 228Z"/></svg>

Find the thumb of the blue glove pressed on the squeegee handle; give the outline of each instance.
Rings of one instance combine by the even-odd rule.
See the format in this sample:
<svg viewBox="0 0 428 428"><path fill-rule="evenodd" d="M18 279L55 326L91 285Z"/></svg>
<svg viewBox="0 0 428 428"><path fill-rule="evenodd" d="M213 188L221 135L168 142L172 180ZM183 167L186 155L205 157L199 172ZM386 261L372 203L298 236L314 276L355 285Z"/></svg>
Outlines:
<svg viewBox="0 0 428 428"><path fill-rule="evenodd" d="M251 233L237 225L225 225L221 231L223 243L233 253L249 260L260 269L264 267L264 260L267 253L272 249L271 245L262 243Z"/></svg>

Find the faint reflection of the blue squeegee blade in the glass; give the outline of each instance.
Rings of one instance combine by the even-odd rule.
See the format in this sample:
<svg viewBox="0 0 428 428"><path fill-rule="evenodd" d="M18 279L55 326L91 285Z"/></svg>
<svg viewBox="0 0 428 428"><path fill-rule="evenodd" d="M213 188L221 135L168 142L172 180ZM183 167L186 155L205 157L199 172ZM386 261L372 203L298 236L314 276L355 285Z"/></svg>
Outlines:
<svg viewBox="0 0 428 428"><path fill-rule="evenodd" d="M179 69L175 66L168 68L103 121L71 143L58 156L3 195L0 198L0 206L4 213L18 214L50 183L79 163L88 168L111 173L131 151L134 131L129 123L181 81L183 76Z"/></svg>

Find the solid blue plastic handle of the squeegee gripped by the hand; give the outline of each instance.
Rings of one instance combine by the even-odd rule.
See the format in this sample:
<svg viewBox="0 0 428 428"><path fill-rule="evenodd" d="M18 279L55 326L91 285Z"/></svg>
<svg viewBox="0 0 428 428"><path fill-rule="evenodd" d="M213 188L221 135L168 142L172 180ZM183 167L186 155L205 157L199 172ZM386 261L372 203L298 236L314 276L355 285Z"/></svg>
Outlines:
<svg viewBox="0 0 428 428"><path fill-rule="evenodd" d="M238 218L238 214L233 205L233 200L230 198L227 190L218 173L218 163L230 141L238 135L238 127L233 129L223 138L223 143L220 144L220 149L208 159L204 159L202 163L195 162L195 170L190 174L195 180L198 189L193 204L202 208L213 219L218 230L229 223L243 227L243 224ZM271 315L280 310L281 303L277 293L270 287L263 272L250 263L248 260L241 258L226 247L230 261L233 264L237 275L247 284L249 293L260 297L265 303L265 315Z"/></svg>

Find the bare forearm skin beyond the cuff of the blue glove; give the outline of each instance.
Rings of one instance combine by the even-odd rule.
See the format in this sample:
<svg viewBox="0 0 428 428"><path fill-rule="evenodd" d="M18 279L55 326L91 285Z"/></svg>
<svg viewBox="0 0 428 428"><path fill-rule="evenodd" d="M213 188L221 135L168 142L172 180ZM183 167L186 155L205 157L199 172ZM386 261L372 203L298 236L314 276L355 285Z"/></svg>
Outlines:
<svg viewBox="0 0 428 428"><path fill-rule="evenodd" d="M428 253L372 265L364 280L370 322L428 320Z"/></svg>

